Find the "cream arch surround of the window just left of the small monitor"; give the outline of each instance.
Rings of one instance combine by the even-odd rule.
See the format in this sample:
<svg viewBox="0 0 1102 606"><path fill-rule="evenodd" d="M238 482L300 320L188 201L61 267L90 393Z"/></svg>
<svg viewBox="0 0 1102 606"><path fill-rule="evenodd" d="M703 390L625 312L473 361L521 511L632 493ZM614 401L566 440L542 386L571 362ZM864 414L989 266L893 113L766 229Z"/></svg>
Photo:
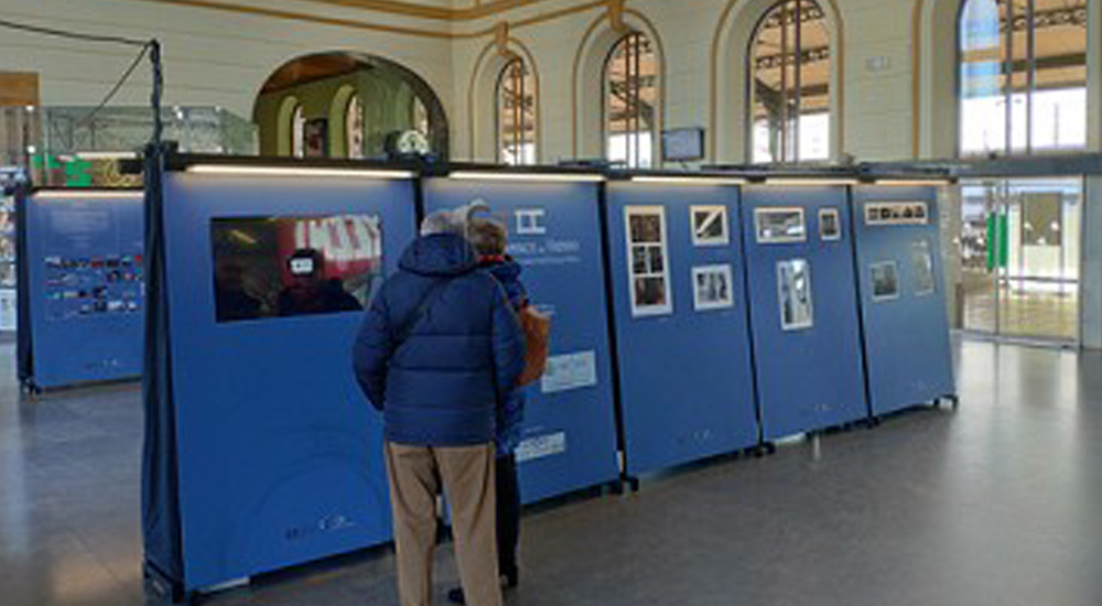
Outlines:
<svg viewBox="0 0 1102 606"><path fill-rule="evenodd" d="M658 56L658 111L655 130L655 164L662 158L662 130L666 128L666 47L658 28L645 14L635 9L624 9L609 3L609 10L596 18L582 36L574 55L571 78L571 125L574 158L602 158L604 141L604 72L606 59L613 47L625 35L639 32L650 39Z"/></svg>

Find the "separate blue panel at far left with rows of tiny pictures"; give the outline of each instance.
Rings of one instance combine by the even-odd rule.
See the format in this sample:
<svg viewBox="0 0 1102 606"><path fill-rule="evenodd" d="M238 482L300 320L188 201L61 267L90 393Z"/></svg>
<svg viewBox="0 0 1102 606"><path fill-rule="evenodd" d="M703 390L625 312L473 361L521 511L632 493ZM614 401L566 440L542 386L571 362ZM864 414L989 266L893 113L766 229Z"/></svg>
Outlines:
<svg viewBox="0 0 1102 606"><path fill-rule="evenodd" d="M141 192L42 191L29 197L29 387L137 379L142 368Z"/></svg>

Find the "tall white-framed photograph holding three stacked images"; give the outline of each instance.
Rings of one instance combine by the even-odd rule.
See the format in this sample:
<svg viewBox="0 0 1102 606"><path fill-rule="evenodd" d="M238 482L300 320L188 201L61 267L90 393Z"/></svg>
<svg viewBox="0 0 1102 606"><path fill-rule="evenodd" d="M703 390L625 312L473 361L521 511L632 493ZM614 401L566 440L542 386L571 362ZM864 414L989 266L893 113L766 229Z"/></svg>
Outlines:
<svg viewBox="0 0 1102 606"><path fill-rule="evenodd" d="M624 208L627 240L631 316L647 317L673 313L670 291L669 248L666 241L666 208Z"/></svg>

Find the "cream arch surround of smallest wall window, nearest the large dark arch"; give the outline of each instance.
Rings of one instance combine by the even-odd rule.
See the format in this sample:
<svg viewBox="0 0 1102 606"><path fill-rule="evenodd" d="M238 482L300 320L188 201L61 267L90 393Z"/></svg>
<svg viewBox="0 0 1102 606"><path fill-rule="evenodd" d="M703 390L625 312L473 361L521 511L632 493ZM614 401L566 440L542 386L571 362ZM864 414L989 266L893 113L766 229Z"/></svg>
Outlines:
<svg viewBox="0 0 1102 606"><path fill-rule="evenodd" d="M504 42L504 43L503 43ZM472 160L497 160L497 83L515 58L523 59L536 79L536 161L543 158L543 80L536 55L520 40L506 35L483 47L467 86L467 152Z"/></svg>

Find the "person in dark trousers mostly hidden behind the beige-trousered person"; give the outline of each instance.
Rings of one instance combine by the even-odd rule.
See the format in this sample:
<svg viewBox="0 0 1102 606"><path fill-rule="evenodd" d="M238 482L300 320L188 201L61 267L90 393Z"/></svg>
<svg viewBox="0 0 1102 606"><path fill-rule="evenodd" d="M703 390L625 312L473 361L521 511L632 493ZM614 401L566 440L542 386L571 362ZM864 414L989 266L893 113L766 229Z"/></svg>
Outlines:
<svg viewBox="0 0 1102 606"><path fill-rule="evenodd" d="M505 289L509 304L518 313L528 305L528 292L520 281L523 268L506 255L509 231L494 219L475 218L468 223L467 239L478 253L479 267ZM514 389L505 404L504 418L497 429L495 445L495 478L497 481L497 560L504 585L516 587L520 581L517 544L520 542L520 483L517 477L517 446L525 421L525 390ZM455 604L465 604L462 588L449 592Z"/></svg>

